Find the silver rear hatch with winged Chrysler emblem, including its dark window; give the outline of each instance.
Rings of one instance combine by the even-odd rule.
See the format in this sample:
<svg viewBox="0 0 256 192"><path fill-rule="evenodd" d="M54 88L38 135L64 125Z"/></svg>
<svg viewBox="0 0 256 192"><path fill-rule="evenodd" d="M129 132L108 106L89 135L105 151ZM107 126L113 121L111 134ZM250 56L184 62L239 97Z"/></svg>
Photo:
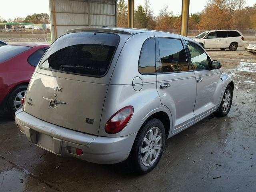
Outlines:
<svg viewBox="0 0 256 192"><path fill-rule="evenodd" d="M64 128L98 135L112 71L130 36L92 31L58 38L30 80L24 111Z"/></svg>

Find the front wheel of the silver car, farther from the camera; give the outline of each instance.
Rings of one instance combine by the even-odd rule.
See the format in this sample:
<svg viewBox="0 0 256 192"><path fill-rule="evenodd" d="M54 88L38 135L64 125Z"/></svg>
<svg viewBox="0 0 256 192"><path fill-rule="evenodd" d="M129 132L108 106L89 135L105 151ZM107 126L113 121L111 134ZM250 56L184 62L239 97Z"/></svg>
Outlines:
<svg viewBox="0 0 256 192"><path fill-rule="evenodd" d="M220 106L214 114L218 117L224 117L230 111L231 105L233 100L233 89L230 85L227 86L225 93L222 97L222 101Z"/></svg>

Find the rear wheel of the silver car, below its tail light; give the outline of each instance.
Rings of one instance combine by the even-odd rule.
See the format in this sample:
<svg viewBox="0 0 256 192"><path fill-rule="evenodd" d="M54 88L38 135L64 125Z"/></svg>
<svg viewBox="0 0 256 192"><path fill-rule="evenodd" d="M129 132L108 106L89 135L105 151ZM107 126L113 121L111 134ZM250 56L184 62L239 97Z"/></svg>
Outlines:
<svg viewBox="0 0 256 192"><path fill-rule="evenodd" d="M127 159L128 166L138 174L152 171L158 164L165 146L165 129L156 118L140 128Z"/></svg>

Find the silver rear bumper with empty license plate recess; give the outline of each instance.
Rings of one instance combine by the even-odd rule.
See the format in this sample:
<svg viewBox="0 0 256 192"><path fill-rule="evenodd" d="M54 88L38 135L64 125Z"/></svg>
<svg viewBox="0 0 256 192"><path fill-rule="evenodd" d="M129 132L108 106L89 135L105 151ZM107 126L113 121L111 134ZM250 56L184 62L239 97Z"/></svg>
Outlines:
<svg viewBox="0 0 256 192"><path fill-rule="evenodd" d="M60 156L74 156L99 164L114 164L126 160L136 133L124 137L101 137L77 132L40 120L24 111L15 113L18 129L33 144ZM82 156L68 149L82 149Z"/></svg>

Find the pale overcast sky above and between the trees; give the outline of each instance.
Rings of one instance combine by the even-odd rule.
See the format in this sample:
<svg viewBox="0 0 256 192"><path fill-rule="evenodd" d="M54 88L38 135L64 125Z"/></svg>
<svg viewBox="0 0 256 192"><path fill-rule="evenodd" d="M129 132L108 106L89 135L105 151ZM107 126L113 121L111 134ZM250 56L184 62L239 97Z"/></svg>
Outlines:
<svg viewBox="0 0 256 192"><path fill-rule="evenodd" d="M207 0L190 0L190 13L200 12L204 9ZM150 0L154 15L157 15L159 10L165 4L168 4L169 11L174 15L181 13L182 0ZM255 0L247 0L246 5L252 6ZM1 0L0 16L5 20L15 17L26 17L34 13L48 13L48 0ZM135 6L144 5L144 0L135 0Z"/></svg>

